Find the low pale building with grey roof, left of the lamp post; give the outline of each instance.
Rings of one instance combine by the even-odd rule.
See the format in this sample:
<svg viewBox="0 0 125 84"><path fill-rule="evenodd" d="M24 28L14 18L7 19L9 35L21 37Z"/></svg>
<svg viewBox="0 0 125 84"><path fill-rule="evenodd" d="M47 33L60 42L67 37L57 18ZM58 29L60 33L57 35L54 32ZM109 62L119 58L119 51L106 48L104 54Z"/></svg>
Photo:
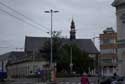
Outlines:
<svg viewBox="0 0 125 84"><path fill-rule="evenodd" d="M5 55L8 56L5 66L8 78L34 76L38 71L47 70L48 62L41 59L33 60L33 56L27 57L24 52L12 51L2 56Z"/></svg>

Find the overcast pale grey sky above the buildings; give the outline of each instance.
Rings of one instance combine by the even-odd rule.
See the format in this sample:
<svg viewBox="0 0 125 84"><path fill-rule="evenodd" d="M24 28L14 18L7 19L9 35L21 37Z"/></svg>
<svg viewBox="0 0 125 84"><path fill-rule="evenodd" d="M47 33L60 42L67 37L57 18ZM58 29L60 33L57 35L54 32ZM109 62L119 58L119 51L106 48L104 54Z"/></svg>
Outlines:
<svg viewBox="0 0 125 84"><path fill-rule="evenodd" d="M50 14L53 31L69 38L70 24L76 26L76 38L98 37L107 27L116 30L114 0L0 0L0 54L23 51L25 36L49 37ZM4 5L3 5L4 4ZM14 11L13 11L14 10ZM95 40L99 49L99 39Z"/></svg>

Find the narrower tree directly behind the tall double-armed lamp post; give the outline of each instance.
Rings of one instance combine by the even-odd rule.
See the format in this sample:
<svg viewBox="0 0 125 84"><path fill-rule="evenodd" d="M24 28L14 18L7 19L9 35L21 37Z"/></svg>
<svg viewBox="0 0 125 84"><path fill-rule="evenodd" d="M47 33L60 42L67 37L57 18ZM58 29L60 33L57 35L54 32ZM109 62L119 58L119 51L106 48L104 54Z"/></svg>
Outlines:
<svg viewBox="0 0 125 84"><path fill-rule="evenodd" d="M56 60L59 58L59 49L62 44L60 39L61 32L53 32L52 39L53 39L53 62L56 62ZM50 53L51 53L51 46L50 46L50 39L45 41L44 46L41 48L42 57L44 57L47 61L50 61Z"/></svg>

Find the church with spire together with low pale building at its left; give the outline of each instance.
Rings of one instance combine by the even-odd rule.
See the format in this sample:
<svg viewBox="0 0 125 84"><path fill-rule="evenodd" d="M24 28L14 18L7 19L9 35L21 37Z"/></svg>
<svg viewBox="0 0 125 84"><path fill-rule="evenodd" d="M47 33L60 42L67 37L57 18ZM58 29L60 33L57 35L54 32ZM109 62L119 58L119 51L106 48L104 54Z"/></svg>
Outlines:
<svg viewBox="0 0 125 84"><path fill-rule="evenodd" d="M59 38L64 44L75 43L82 51L89 54L90 57L95 58L99 52L91 39L76 39L75 23L72 20L70 26L70 39ZM43 57L44 52L40 50L44 47L46 42L49 42L49 37L28 37L25 38L24 52L10 52L8 54L7 72L9 77L27 77L36 75L37 71L45 71L49 69L49 61ZM39 53L41 55L39 55ZM4 55L3 55L4 57ZM96 64L96 63L95 63ZM94 73L94 72L93 72Z"/></svg>

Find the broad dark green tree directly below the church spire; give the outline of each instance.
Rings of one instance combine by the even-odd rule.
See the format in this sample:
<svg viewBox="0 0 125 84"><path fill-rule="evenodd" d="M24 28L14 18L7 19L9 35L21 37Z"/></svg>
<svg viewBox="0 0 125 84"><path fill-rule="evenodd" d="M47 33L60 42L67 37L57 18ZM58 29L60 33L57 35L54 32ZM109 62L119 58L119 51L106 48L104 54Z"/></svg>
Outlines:
<svg viewBox="0 0 125 84"><path fill-rule="evenodd" d="M94 68L94 60L89 57L88 53L81 51L81 49L76 44L65 44L60 50L60 59L57 61L58 71L66 70L70 72L70 49L72 47L72 62L73 71L77 73L83 73L83 71L88 72L89 69Z"/></svg>

